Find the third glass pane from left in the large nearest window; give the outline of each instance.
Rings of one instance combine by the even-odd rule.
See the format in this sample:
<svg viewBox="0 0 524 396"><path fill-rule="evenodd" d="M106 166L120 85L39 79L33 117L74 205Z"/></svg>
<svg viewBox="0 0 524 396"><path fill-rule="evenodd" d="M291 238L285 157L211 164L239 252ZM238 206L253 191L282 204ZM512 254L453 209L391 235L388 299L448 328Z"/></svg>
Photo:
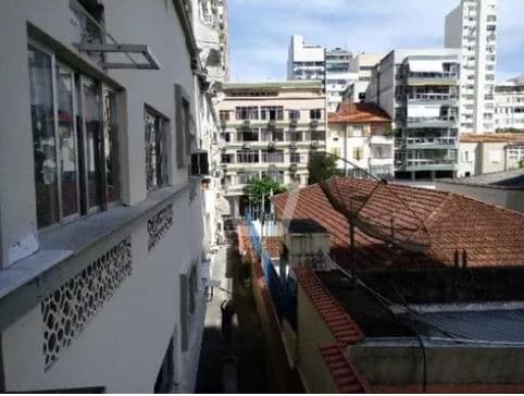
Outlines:
<svg viewBox="0 0 524 396"><path fill-rule="evenodd" d="M86 168L88 207L98 207L102 202L100 169L100 97L97 86L90 82L83 83L84 123L86 128Z"/></svg>

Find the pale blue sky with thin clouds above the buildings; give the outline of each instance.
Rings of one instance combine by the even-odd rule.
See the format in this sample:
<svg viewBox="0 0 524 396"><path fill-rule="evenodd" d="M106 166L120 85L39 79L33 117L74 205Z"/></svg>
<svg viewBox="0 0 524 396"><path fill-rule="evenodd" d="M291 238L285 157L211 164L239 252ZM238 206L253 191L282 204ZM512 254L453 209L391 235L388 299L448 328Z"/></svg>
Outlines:
<svg viewBox="0 0 524 396"><path fill-rule="evenodd" d="M291 35L352 52L444 47L448 12L460 0L228 0L230 77L286 78ZM497 81L524 74L524 0L499 0Z"/></svg>

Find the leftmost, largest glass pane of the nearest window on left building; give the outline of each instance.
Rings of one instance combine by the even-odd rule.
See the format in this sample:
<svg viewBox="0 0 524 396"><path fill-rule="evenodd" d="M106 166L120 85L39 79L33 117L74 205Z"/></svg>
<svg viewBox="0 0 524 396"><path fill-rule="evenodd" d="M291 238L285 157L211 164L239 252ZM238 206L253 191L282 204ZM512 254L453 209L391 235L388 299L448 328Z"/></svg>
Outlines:
<svg viewBox="0 0 524 396"><path fill-rule="evenodd" d="M28 47L38 227L60 220L51 57Z"/></svg>

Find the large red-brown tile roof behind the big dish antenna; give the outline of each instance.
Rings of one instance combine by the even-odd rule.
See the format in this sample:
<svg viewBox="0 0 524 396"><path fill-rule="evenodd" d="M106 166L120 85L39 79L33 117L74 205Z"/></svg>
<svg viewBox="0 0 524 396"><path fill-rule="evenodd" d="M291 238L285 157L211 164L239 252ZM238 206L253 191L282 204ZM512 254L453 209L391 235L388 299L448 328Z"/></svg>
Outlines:
<svg viewBox="0 0 524 396"><path fill-rule="evenodd" d="M333 177L326 186L348 211L360 209L359 219L373 228L390 233L392 220L396 239L425 245L424 251L407 251L355 228L357 268L453 265L457 249L466 250L469 267L524 265L522 213L452 193L374 181ZM353 208L347 205L350 200ZM280 219L311 219L324 226L332 256L340 264L347 262L347 218L333 208L319 184L280 194L272 202Z"/></svg>

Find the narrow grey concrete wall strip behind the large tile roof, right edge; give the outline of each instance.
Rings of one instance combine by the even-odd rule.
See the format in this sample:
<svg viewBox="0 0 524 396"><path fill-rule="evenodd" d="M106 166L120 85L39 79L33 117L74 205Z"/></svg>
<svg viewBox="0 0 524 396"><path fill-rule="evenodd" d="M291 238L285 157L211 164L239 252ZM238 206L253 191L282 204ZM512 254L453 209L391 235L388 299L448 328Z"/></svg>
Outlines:
<svg viewBox="0 0 524 396"><path fill-rule="evenodd" d="M456 193L492 203L506 209L524 212L524 190L499 186L467 184L452 181L437 181L436 189L440 191Z"/></svg>

